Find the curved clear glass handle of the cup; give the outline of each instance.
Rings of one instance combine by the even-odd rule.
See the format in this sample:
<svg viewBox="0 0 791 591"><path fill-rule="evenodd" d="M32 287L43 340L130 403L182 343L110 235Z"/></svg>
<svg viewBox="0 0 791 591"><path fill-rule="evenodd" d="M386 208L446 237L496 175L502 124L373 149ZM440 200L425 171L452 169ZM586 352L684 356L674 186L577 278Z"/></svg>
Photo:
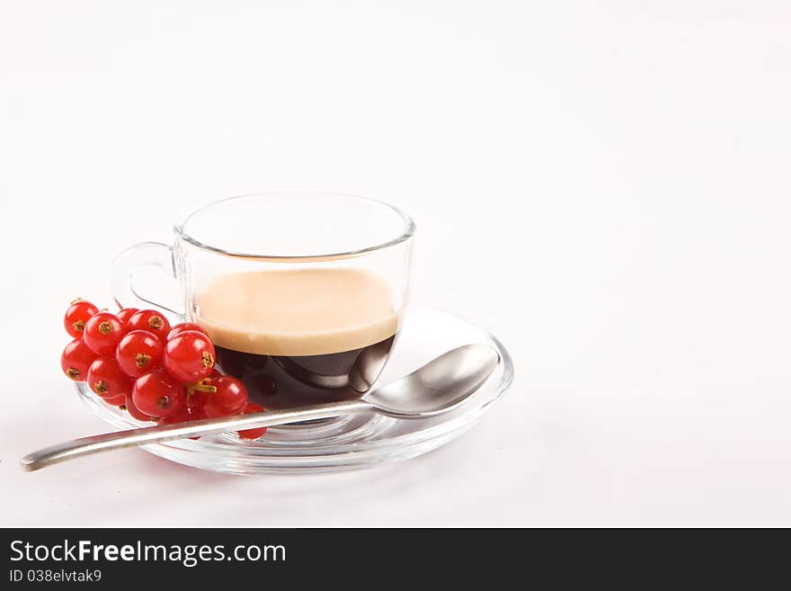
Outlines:
<svg viewBox="0 0 791 591"><path fill-rule="evenodd" d="M112 299L120 308L154 307L183 318L183 310L174 310L147 300L135 291L135 270L143 266L156 266L169 278L176 278L173 248L161 242L141 242L127 248L113 261L110 274Z"/></svg>

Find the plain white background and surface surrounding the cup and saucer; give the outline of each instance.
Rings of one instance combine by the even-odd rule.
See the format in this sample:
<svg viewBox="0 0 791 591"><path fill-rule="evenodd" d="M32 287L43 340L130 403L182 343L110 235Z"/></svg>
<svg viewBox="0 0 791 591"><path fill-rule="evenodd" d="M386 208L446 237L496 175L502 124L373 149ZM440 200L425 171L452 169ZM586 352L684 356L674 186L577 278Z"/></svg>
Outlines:
<svg viewBox="0 0 791 591"><path fill-rule="evenodd" d="M789 105L782 1L4 3L0 524L791 525ZM302 188L413 215L502 403L376 470L23 473L106 429L58 358L113 256Z"/></svg>

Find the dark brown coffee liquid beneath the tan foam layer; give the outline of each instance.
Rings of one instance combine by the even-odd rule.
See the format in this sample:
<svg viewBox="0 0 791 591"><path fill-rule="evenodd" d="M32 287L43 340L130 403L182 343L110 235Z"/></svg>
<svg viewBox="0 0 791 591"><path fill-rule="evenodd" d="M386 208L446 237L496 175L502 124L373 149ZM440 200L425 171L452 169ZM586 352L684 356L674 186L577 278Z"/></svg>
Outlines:
<svg viewBox="0 0 791 591"><path fill-rule="evenodd" d="M395 338L322 355L276 356L215 348L222 371L243 381L251 400L264 408L293 408L365 396Z"/></svg>

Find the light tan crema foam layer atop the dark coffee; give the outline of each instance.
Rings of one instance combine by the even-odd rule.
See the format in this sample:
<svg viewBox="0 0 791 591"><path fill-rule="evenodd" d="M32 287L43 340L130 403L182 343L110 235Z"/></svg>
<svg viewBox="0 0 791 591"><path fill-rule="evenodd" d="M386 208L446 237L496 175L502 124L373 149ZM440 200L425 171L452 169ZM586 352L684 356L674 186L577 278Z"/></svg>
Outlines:
<svg viewBox="0 0 791 591"><path fill-rule="evenodd" d="M386 282L355 269L219 275L195 298L193 320L215 345L263 355L320 355L396 334Z"/></svg>

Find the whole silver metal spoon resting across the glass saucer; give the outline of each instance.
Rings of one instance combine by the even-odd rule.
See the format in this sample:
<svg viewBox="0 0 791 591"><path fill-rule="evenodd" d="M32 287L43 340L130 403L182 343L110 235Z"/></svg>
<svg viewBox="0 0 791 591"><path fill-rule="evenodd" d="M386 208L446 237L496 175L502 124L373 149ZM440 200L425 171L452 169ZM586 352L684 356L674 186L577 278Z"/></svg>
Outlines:
<svg viewBox="0 0 791 591"><path fill-rule="evenodd" d="M40 470L59 461L125 447L332 416L364 412L395 418L437 416L461 406L486 381L499 360L499 354L489 345L464 345L440 355L400 380L369 392L364 399L83 437L29 453L22 458L22 470Z"/></svg>

